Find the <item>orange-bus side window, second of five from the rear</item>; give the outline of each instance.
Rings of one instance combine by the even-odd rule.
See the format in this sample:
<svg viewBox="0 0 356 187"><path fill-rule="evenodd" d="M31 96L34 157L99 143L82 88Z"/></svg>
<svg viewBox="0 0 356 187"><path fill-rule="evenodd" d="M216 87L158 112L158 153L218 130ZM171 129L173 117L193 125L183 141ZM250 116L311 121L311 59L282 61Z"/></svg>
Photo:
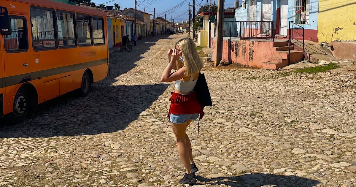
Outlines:
<svg viewBox="0 0 356 187"><path fill-rule="evenodd" d="M77 14L77 33L79 46L91 45L90 15Z"/></svg>

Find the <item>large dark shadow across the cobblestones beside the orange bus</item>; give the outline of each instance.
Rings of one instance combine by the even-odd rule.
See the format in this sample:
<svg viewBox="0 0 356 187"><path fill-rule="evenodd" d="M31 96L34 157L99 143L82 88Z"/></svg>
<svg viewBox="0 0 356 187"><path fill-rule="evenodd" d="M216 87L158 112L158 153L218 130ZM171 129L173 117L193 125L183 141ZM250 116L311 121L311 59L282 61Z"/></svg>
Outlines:
<svg viewBox="0 0 356 187"><path fill-rule="evenodd" d="M137 44L131 52L110 53L110 75L93 84L87 97L68 93L29 112L25 121L17 125L0 119L0 137L53 137L111 133L125 129L139 114L157 100L169 84L112 85L120 75L135 68L160 39L153 37Z"/></svg>

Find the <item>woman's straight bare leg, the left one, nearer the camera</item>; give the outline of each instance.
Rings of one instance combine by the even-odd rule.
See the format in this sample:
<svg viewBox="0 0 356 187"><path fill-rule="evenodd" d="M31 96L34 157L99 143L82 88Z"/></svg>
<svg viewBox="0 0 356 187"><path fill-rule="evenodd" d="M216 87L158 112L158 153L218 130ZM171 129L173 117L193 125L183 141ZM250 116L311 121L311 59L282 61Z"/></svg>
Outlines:
<svg viewBox="0 0 356 187"><path fill-rule="evenodd" d="M172 129L174 134L176 135L176 140L177 140L177 149L178 149L178 154L180 157L180 160L183 163L183 166L185 168L185 173L188 175L192 172L190 169L190 162L189 162L189 151L186 143L186 134L185 134L185 128L187 127L187 124L174 124L172 123Z"/></svg>

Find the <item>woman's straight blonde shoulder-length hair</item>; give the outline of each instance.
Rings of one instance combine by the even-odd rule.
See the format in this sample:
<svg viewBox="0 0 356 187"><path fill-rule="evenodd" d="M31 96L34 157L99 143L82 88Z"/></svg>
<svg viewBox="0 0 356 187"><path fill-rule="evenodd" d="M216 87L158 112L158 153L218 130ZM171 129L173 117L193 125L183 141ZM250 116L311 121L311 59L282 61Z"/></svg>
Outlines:
<svg viewBox="0 0 356 187"><path fill-rule="evenodd" d="M187 37L182 38L176 43L176 49L177 46L182 52L182 57L185 66L184 75L191 76L199 73L200 69L203 68L204 64L203 60L198 55L197 46L195 45L193 40ZM178 69L182 68L183 66L183 64L178 63L178 61L176 62L176 64Z"/></svg>

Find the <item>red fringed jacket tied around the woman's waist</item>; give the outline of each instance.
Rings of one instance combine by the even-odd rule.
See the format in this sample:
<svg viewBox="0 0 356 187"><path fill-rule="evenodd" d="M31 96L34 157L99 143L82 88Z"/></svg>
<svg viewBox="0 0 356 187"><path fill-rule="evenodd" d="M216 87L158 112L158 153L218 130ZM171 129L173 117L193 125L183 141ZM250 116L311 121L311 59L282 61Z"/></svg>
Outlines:
<svg viewBox="0 0 356 187"><path fill-rule="evenodd" d="M171 98L169 98L171 107L169 107L168 118L171 116L171 113L174 115L200 114L200 119L203 118L204 111L201 108L195 92L188 95L172 92L171 95Z"/></svg>

